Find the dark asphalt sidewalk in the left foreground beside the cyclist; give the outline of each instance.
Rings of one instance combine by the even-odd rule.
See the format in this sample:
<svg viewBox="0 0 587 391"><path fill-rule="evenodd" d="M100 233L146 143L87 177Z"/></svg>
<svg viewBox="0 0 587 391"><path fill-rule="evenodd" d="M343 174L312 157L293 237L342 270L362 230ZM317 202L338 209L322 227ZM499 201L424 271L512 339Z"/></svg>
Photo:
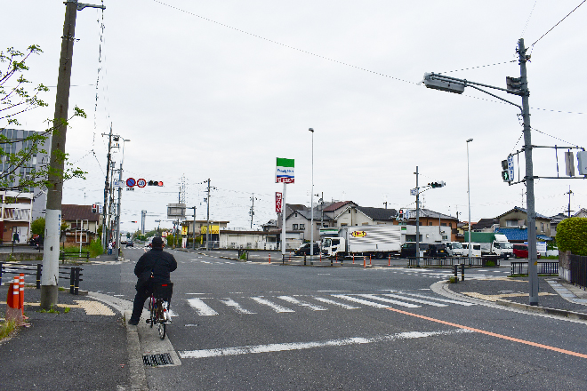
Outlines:
<svg viewBox="0 0 587 391"><path fill-rule="evenodd" d="M0 286L3 316L7 291L7 285ZM26 287L24 295L31 325L0 343L4 391L132 389L127 332L117 309L90 296L59 291L54 308L59 313L41 313L41 290Z"/></svg>

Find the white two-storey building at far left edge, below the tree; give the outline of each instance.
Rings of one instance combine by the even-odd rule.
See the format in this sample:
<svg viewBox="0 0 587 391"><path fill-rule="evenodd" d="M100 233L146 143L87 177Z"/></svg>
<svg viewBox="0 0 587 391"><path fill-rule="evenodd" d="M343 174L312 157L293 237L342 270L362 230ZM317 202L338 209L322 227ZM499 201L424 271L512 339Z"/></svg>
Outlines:
<svg viewBox="0 0 587 391"><path fill-rule="evenodd" d="M19 235L18 243L27 243L32 222L33 193L0 190L1 242L11 243L14 234Z"/></svg>

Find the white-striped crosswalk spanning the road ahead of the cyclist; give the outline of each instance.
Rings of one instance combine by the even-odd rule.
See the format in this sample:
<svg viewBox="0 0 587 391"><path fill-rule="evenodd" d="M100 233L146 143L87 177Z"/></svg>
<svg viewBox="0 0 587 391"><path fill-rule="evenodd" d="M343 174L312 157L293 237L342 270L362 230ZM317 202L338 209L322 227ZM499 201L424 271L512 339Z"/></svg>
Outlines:
<svg viewBox="0 0 587 391"><path fill-rule="evenodd" d="M389 293L348 293L250 296L238 298L197 297L186 299L189 307L199 316L214 316L234 312L240 315L257 315L265 312L288 314L297 311L328 311L336 309L360 309L365 307L418 308L448 307L450 305L469 307L474 303L442 299L430 295L390 291ZM177 310L177 308L175 308Z"/></svg>

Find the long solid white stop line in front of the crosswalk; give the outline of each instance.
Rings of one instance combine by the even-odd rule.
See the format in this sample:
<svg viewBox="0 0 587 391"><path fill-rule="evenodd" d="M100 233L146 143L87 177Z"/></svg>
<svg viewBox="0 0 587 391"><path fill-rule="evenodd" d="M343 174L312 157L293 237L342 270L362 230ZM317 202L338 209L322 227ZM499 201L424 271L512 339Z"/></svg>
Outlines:
<svg viewBox="0 0 587 391"><path fill-rule="evenodd" d="M388 334L379 337L362 338L353 337L345 339L330 339L314 342L289 342L269 345L250 345L245 347L221 347L216 349L184 350L178 352L181 358L207 358L224 355L249 355L254 353L285 352L292 350L312 349L317 347L345 347L350 345L372 344L377 342L390 342L403 339L416 339L434 337L438 335L459 334L462 332L474 332L466 329L449 331L409 331L398 334Z"/></svg>

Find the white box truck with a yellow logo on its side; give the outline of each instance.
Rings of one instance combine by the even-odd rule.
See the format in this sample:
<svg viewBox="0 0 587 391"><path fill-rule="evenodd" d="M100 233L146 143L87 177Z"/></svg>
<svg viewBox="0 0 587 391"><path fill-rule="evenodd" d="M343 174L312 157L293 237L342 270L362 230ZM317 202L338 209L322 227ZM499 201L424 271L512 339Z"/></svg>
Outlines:
<svg viewBox="0 0 587 391"><path fill-rule="evenodd" d="M399 226L340 227L334 237L322 239L322 251L328 257L351 255L387 258L401 249Z"/></svg>

